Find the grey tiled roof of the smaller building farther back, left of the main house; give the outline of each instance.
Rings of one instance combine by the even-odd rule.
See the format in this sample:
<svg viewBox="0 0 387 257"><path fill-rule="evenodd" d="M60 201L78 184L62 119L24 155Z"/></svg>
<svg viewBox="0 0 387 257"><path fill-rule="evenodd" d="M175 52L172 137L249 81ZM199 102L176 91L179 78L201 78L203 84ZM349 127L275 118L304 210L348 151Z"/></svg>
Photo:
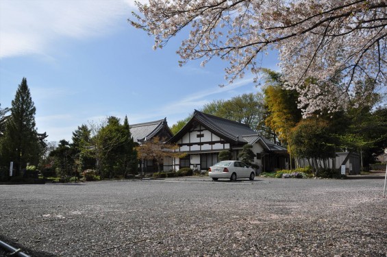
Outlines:
<svg viewBox="0 0 387 257"><path fill-rule="evenodd" d="M129 125L129 127L134 142L142 142L145 139L149 140L154 136L159 136L160 134L166 134L168 138L173 136L171 130L169 130L168 124L166 123L166 118L158 121L133 124Z"/></svg>

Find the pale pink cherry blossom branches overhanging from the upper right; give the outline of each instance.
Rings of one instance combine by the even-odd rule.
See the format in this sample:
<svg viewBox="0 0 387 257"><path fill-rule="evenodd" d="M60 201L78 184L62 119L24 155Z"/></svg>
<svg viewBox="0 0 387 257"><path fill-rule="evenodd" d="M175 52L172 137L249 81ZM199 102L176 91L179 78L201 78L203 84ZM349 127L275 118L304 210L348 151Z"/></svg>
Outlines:
<svg viewBox="0 0 387 257"><path fill-rule="evenodd" d="M229 64L229 83L246 72L257 81L260 57L277 49L286 87L299 92L305 115L386 93L386 0L150 0L136 5L140 14L130 22L154 36L155 49L190 27L177 50L179 64L203 59L205 65L221 58ZM308 78L316 83L305 86ZM355 84L364 79L373 79L375 86L358 92Z"/></svg>

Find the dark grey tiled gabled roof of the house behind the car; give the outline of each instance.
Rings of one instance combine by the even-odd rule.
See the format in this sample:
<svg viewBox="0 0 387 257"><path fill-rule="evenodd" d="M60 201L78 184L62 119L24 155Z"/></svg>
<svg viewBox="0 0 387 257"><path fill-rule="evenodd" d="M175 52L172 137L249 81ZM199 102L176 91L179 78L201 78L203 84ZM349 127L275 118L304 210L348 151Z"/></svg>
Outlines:
<svg viewBox="0 0 387 257"><path fill-rule="evenodd" d="M195 110L194 115L190 121L188 121L182 130L177 132L177 134L173 136L170 141L177 142L179 138L182 138L182 136L192 130L192 127L196 127L198 123L224 140L229 142L232 141L234 143L246 143L246 140L243 139L242 136L255 134L255 131L251 130L247 124L230 121L228 119L223 119L221 117L216 117L214 115L205 114L204 112Z"/></svg>

